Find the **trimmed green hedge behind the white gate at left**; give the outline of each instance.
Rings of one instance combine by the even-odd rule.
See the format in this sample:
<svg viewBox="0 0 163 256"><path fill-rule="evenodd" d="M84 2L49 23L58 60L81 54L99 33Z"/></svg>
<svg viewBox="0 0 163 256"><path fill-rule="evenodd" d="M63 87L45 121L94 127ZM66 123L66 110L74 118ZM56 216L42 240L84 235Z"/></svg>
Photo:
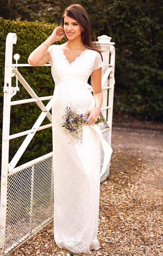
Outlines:
<svg viewBox="0 0 163 256"><path fill-rule="evenodd" d="M29 54L42 43L53 32L57 24L49 24L47 22L27 22L9 21L0 19L0 84L4 85L4 57L5 57L5 41L7 34L13 32L17 34L17 43L13 45L13 55L20 54L18 63L27 63ZM65 39L62 41L64 42ZM57 43L62 43L58 41ZM13 63L15 60L13 59ZM54 82L51 76L51 67L26 67L18 68L22 76L26 79L29 85L33 88L39 97L53 95ZM3 87L0 90L0 138L2 138L2 108L3 108ZM15 77L13 78L13 86L15 86ZM20 100L30 98L30 95L25 91L19 83L20 91L12 98L12 100ZM44 101L43 103L48 103ZM41 113L40 108L36 103L21 104L11 106L11 126L10 134L15 134L26 129L31 129L37 117ZM49 123L46 118L42 125ZM25 136L10 140L9 159L13 157L20 147ZM1 146L0 146L1 148ZM52 151L52 131L51 128L38 131L29 147L24 152L19 164L26 163L43 154Z"/></svg>

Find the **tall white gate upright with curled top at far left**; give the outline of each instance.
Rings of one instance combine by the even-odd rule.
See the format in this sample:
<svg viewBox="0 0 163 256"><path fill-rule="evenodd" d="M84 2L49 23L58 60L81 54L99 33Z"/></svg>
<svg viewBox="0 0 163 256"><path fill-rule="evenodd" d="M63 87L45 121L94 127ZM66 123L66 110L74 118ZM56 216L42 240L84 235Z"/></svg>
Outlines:
<svg viewBox="0 0 163 256"><path fill-rule="evenodd" d="M13 44L17 41L15 33L9 33L6 39L5 72L4 72L4 103L3 103L3 130L2 130L2 173L0 193L0 256L4 255L6 214L7 214L7 178L9 165L9 131L11 109L11 87Z"/></svg>

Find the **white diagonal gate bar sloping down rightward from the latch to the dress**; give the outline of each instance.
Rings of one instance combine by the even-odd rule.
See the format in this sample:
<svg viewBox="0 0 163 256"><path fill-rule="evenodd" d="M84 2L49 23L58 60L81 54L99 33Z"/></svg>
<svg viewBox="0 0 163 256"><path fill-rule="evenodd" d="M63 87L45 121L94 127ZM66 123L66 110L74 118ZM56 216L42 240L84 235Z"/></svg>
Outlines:
<svg viewBox="0 0 163 256"><path fill-rule="evenodd" d="M50 122L52 122L52 116L51 113L49 113L49 111L46 109L46 106L44 106L44 104L42 103L42 101L39 99L39 97L37 96L37 94L33 91L33 89L31 88L31 86L26 82L26 80L24 79L24 77L22 77L22 75L20 74L20 72L14 67L12 69L12 72L15 73L15 75L18 75L18 81L22 84L22 86L24 86L24 88L26 89L26 91L29 93L29 95L31 95L32 98L36 98L38 101L36 102L36 104L40 107L40 109L43 112L48 112L47 113L47 118ZM50 109L49 109L50 110Z"/></svg>

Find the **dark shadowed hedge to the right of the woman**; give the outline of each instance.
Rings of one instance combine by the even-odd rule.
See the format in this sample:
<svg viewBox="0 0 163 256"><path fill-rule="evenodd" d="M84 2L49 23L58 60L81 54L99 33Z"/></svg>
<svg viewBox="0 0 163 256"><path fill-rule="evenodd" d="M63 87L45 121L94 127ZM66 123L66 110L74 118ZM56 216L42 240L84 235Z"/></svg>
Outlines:
<svg viewBox="0 0 163 256"><path fill-rule="evenodd" d="M115 42L115 120L163 122L162 0L81 2L95 34Z"/></svg>

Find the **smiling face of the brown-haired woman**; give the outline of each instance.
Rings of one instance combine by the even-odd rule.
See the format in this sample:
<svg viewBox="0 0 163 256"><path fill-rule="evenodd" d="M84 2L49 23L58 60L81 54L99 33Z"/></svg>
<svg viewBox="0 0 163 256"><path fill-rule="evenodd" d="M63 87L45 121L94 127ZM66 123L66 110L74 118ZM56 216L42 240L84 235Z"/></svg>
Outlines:
<svg viewBox="0 0 163 256"><path fill-rule="evenodd" d="M74 20L73 18L70 18L68 16L64 16L64 33L66 34L68 40L74 40L78 37L81 38L82 33L82 27L77 22L77 20Z"/></svg>

